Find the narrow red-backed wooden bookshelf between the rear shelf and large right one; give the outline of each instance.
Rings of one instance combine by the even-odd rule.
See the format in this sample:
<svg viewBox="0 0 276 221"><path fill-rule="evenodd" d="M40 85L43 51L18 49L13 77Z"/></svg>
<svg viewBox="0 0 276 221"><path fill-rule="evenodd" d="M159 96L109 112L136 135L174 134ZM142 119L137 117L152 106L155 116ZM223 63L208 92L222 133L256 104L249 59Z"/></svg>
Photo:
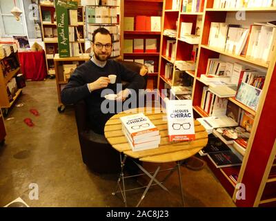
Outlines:
<svg viewBox="0 0 276 221"><path fill-rule="evenodd" d="M167 86L180 86L179 82L177 82L177 73L179 73L179 70L176 68L176 61L190 61L192 59L193 51L195 51L195 47L198 47L197 45L188 44L185 41L182 41L180 39L181 34L181 24L182 23L193 23L193 27L191 30L191 34L196 34L196 28L199 23L197 21L200 20L201 17L203 17L203 12L182 12L182 2L179 1L179 6L174 6L178 8L178 10L175 10L175 8L172 10L172 0L166 0L164 1L164 13L163 13L163 23L162 23L162 32L161 32L161 52L159 57L159 79L158 79L158 89L159 93L161 93L161 90ZM200 25L199 25L200 26ZM200 30L202 30L202 26L199 27ZM175 35L168 36L165 33L165 30L175 30ZM171 55L168 55L168 50L170 50L170 47L168 47L168 44L170 44L171 41L175 41L175 52L171 53ZM168 49L169 48L169 49ZM195 56L196 57L196 56ZM197 62L197 59L195 60L195 63ZM165 79L165 73L166 73L166 64L172 64L172 73L170 73L171 79ZM183 75L188 75L192 77L191 87L193 87L193 81L195 81L195 71L193 70L182 70L180 73ZM167 73L168 75L168 73ZM187 83L187 82L184 82Z"/></svg>

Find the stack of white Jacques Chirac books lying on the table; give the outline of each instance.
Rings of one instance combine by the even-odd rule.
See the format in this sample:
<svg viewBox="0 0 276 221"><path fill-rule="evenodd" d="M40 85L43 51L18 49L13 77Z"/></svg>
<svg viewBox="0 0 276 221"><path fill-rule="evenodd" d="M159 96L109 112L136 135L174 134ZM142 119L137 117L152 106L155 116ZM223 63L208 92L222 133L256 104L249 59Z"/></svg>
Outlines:
<svg viewBox="0 0 276 221"><path fill-rule="evenodd" d="M143 151L159 146L161 138L159 130L144 113L120 117L120 120L122 131L132 151Z"/></svg>

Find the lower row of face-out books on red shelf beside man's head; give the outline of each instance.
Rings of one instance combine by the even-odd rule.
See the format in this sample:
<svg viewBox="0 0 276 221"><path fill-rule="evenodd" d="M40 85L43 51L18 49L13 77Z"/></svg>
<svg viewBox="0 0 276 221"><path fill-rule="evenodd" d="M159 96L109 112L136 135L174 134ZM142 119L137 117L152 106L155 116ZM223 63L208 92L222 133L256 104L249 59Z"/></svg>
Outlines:
<svg viewBox="0 0 276 221"><path fill-rule="evenodd" d="M157 52L157 39L124 39L124 53Z"/></svg>

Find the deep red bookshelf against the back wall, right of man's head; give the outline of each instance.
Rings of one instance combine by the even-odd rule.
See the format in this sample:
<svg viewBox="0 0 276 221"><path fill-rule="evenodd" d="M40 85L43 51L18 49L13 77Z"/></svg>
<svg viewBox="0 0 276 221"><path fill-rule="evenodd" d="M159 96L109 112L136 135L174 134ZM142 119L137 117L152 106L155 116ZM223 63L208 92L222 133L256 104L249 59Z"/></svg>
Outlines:
<svg viewBox="0 0 276 221"><path fill-rule="evenodd" d="M137 16L147 16L147 17L161 17L163 10L163 0L145 0L145 1L129 1L122 0L123 3L121 10L121 51L122 58L127 60L141 59L145 61L153 61L154 73L158 73L159 70L159 46L160 46L160 37L161 31L151 31L136 30L136 17ZM124 17L133 17L133 30L124 30ZM134 51L134 40L133 39L144 39L144 52L141 53L129 53L124 52L124 40L132 39L133 46L132 51ZM146 39L156 39L156 52L146 52ZM157 75L148 75L147 88L153 90L157 88Z"/></svg>

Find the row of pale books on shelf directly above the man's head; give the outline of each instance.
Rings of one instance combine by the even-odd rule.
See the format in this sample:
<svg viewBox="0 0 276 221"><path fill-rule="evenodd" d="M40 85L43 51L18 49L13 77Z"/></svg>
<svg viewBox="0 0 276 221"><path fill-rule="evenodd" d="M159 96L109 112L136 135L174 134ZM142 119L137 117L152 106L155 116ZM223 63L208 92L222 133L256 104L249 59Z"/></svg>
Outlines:
<svg viewBox="0 0 276 221"><path fill-rule="evenodd" d="M86 23L117 23L117 8L86 6Z"/></svg>

